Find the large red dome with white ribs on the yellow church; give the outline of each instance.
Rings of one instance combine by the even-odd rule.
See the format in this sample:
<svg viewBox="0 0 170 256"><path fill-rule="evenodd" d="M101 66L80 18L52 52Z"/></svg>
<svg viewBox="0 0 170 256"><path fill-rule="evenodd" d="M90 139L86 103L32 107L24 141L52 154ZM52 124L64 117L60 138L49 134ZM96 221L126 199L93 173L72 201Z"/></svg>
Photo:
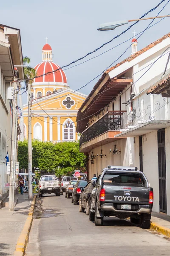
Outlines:
<svg viewBox="0 0 170 256"><path fill-rule="evenodd" d="M57 64L53 63L52 61L43 61L39 63L36 67L34 67L34 69L37 71L37 76L41 76L42 74L52 72L59 68L60 67ZM65 76L64 71L60 69L60 70L57 70L56 72L34 79L34 83L40 83L40 82L47 82L47 83L56 82L56 83L67 84L67 78Z"/></svg>

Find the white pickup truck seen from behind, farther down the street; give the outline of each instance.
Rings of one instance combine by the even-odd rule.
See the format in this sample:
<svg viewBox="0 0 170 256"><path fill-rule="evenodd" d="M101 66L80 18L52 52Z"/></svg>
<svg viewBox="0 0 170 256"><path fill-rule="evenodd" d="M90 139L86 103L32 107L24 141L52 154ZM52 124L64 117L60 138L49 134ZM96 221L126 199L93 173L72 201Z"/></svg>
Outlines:
<svg viewBox="0 0 170 256"><path fill-rule="evenodd" d="M57 196L60 195L59 180L56 175L43 175L40 177L39 182L39 196L43 194L55 193Z"/></svg>

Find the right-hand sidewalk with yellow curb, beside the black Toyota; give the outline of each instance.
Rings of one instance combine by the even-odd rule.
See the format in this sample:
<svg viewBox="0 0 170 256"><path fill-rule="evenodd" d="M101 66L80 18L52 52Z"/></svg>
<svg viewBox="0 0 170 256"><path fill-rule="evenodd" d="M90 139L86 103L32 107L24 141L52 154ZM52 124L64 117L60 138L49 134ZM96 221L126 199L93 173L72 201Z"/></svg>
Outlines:
<svg viewBox="0 0 170 256"><path fill-rule="evenodd" d="M170 216L162 213L152 212L151 229L170 237Z"/></svg>

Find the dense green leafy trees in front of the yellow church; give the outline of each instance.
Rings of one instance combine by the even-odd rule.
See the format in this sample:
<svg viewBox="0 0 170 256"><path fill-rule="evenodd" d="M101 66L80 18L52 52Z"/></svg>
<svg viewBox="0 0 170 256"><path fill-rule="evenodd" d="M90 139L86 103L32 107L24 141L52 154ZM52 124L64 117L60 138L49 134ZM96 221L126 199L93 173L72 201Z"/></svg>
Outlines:
<svg viewBox="0 0 170 256"><path fill-rule="evenodd" d="M33 168L40 171L56 172L57 176L67 175L76 169L84 169L85 156L79 153L79 143L32 141ZM18 143L18 161L20 168L28 168L28 142L24 140Z"/></svg>

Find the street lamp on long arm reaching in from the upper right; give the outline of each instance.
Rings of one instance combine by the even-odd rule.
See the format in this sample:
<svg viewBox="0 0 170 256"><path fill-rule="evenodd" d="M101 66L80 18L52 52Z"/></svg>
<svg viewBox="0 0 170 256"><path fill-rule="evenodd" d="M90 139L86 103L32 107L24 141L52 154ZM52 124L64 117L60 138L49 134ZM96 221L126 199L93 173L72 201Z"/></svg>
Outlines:
<svg viewBox="0 0 170 256"><path fill-rule="evenodd" d="M170 17L170 15L142 18L142 19L137 19L137 20L119 20L119 21L114 21L114 22L109 22L109 23L103 23L100 25L98 30L100 30L100 31L114 30L114 29L116 29L116 27L125 25L129 22L138 21L138 20L151 20L151 19L158 19L158 18L164 18L164 17Z"/></svg>

